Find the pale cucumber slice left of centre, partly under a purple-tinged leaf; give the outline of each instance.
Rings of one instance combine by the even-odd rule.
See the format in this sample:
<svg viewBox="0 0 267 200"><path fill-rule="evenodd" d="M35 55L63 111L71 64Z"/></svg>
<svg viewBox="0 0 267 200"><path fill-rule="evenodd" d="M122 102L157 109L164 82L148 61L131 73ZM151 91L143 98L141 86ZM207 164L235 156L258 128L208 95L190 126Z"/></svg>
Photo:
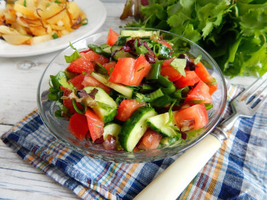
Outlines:
<svg viewBox="0 0 267 200"><path fill-rule="evenodd" d="M96 112L104 123L112 121L117 114L117 103L102 88L88 86L84 88L84 91L91 93L94 88L98 90L95 95L98 105L92 107L93 111Z"/></svg>

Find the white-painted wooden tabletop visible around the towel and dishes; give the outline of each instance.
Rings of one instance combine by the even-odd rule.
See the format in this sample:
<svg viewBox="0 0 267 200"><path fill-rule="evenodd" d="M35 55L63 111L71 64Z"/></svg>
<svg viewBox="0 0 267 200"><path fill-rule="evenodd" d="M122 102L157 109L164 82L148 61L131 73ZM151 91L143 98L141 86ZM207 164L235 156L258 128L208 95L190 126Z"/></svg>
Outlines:
<svg viewBox="0 0 267 200"><path fill-rule="evenodd" d="M126 22L119 20L125 0L103 0L108 17L100 31L116 29ZM37 108L37 85L46 64L58 52L27 58L0 58L0 135L25 115ZM38 63L30 69L18 67L19 62ZM238 83L240 79L234 79ZM249 84L249 81L246 82ZM38 169L22 161L20 156L0 141L0 199L77 199L69 189L48 178Z"/></svg>

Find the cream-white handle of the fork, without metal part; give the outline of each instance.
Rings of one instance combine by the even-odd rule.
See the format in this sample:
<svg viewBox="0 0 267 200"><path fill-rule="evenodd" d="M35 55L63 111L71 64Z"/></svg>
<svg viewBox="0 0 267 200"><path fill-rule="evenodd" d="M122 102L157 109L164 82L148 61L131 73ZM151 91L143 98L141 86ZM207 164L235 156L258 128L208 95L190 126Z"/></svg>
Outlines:
<svg viewBox="0 0 267 200"><path fill-rule="evenodd" d="M134 200L176 199L220 147L219 139L214 135L207 135L197 145L186 150L155 180L152 180Z"/></svg>

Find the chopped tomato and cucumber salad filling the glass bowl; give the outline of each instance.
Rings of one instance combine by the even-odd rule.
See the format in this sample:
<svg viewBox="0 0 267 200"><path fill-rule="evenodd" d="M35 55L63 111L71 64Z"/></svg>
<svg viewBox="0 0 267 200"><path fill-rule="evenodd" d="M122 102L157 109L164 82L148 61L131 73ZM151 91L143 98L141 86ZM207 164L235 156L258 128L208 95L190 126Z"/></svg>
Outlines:
<svg viewBox="0 0 267 200"><path fill-rule="evenodd" d="M106 44L65 55L48 99L77 140L138 152L186 142L209 123L217 89L201 55L174 51L155 30L110 29Z"/></svg>

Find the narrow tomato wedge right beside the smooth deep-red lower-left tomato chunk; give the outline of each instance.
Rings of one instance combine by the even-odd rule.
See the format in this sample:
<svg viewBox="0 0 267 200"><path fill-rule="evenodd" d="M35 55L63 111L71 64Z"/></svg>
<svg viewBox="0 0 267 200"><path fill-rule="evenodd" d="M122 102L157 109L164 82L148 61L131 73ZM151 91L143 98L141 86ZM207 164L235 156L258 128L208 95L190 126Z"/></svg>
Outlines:
<svg viewBox="0 0 267 200"><path fill-rule="evenodd" d="M104 133L104 122L95 112L93 112L91 108L87 108L85 116L87 119L91 138L93 142L95 142L96 139L101 138Z"/></svg>

